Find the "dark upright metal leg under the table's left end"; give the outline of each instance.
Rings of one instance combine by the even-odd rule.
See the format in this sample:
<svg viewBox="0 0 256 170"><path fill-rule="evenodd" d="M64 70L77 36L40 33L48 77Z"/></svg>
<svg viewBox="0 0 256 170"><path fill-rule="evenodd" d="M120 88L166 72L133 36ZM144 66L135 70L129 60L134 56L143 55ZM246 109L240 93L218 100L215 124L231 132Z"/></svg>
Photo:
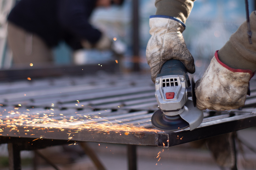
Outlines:
<svg viewBox="0 0 256 170"><path fill-rule="evenodd" d="M9 153L9 169L10 170L21 170L21 154L18 146L9 143L8 144Z"/></svg>

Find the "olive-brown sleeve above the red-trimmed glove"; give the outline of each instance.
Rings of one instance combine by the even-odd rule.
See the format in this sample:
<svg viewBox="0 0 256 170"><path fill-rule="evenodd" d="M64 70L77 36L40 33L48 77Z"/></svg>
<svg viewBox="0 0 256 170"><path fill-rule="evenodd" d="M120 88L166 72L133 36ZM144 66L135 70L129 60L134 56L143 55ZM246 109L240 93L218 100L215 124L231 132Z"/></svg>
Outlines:
<svg viewBox="0 0 256 170"><path fill-rule="evenodd" d="M231 35L228 42L219 50L218 56L222 63L233 69L256 70L256 13L250 15L252 32L249 44L246 21Z"/></svg>

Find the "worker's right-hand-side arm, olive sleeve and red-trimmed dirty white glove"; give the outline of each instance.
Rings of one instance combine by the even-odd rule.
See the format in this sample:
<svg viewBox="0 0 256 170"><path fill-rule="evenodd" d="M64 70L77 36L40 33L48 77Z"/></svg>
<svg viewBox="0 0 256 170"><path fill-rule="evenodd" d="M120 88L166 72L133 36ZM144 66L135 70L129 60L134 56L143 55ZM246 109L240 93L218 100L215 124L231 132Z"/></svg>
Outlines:
<svg viewBox="0 0 256 170"><path fill-rule="evenodd" d="M250 15L252 44L247 23L233 33L215 53L203 77L196 82L197 107L217 111L244 106L250 78L256 70L256 14Z"/></svg>

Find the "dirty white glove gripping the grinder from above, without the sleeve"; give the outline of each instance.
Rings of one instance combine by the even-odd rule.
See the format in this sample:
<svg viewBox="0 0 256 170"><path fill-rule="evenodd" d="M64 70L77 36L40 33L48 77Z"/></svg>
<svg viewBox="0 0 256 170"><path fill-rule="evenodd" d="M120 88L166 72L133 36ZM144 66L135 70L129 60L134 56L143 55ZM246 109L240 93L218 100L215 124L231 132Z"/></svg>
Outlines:
<svg viewBox="0 0 256 170"><path fill-rule="evenodd" d="M152 81L155 83L156 75L170 59L180 60L188 73L194 73L194 59L181 34L185 25L168 18L150 18L149 25L151 38L147 43L146 58L151 68Z"/></svg>

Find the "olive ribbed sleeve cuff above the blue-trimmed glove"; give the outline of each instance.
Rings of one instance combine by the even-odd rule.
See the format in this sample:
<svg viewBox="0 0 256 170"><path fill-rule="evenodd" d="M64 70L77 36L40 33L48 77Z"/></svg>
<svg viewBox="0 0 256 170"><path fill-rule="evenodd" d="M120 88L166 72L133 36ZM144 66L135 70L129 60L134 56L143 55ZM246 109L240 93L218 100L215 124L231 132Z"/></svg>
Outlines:
<svg viewBox="0 0 256 170"><path fill-rule="evenodd" d="M156 0L156 15L167 15L185 23L194 5L194 1L195 0Z"/></svg>

